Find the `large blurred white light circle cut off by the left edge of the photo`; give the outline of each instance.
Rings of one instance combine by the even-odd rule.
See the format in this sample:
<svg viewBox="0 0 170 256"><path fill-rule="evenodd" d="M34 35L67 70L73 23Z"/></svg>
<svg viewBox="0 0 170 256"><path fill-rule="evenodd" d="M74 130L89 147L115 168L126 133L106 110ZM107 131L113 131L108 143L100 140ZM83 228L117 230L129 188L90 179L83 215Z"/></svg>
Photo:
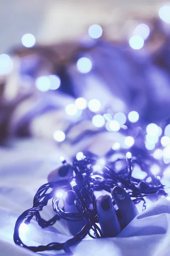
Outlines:
<svg viewBox="0 0 170 256"><path fill-rule="evenodd" d="M9 55L0 55L0 75L7 74L12 70L13 63Z"/></svg>

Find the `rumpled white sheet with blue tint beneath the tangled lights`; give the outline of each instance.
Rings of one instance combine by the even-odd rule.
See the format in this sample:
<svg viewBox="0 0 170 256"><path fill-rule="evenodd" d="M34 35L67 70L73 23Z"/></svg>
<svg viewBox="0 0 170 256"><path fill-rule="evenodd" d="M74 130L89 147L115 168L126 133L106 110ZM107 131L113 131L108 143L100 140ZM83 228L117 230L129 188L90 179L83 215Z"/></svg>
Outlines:
<svg viewBox="0 0 170 256"><path fill-rule="evenodd" d="M47 182L48 173L59 166L56 146L43 141L17 141L0 148L0 255L33 256L35 253L14 244L17 217L32 207L35 192ZM49 204L43 217L54 215ZM75 256L169 256L170 202L159 199L138 215L116 238L85 239L71 250ZM65 234L65 235L63 235ZM65 241L70 236L65 221L42 230L35 221L22 239L28 245ZM42 253L43 254L43 253ZM43 255L65 255L63 251Z"/></svg>

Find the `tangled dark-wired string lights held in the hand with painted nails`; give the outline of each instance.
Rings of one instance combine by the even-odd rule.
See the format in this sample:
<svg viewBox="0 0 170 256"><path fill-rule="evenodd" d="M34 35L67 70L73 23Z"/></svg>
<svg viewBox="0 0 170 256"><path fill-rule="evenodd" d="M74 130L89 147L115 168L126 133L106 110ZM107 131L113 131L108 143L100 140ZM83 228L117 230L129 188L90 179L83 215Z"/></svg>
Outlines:
<svg viewBox="0 0 170 256"><path fill-rule="evenodd" d="M90 155L90 153L88 153ZM150 177L150 183L148 183L147 188L142 188L139 186L141 183L140 179L132 177L132 167L134 164L138 164L141 169L146 171L149 165L147 161L133 157L132 154L127 152L126 158L118 158L117 160L108 163L108 165L103 165L102 168L98 171L95 170L97 160L91 159L89 157L82 157L82 160L74 160L73 165L68 165L66 160L62 159L63 166L59 171L64 170L63 167L71 170L71 180L58 180L56 182L49 182L38 189L36 195L34 196L33 207L31 209L23 212L20 217L17 219L14 228L14 242L20 246L26 247L29 250L34 252L40 252L45 250L65 250L69 255L72 255L70 246L81 241L85 236L89 235L91 238L102 237L102 231L97 225L99 223L97 207L96 207L96 197L94 195L95 191L105 190L106 192L111 192L111 189L114 186L122 186L126 192L133 198L133 202L138 204L140 201L143 201L143 209L146 208L145 199L146 195L162 191L164 195L164 186L161 184L161 181L151 172L148 172L145 180ZM153 159L151 159L152 161ZM116 162L127 163L126 168L122 168L117 172L113 166ZM110 167L112 166L112 167ZM124 166L124 165L123 165ZM68 175L68 171L65 172L65 175ZM62 177L63 177L62 173ZM77 206L78 212L65 212L64 208L59 207L59 202L62 200L62 193L57 193L59 189L68 191L73 189L77 195L75 204ZM45 221L40 212L43 207L48 204L48 201L53 198L52 206L54 212L56 213L53 218L48 221ZM113 202L113 205L115 202ZM116 210L116 214L120 219L119 209ZM27 246L23 243L19 236L20 225L24 222L29 224L31 219L35 217L37 223L40 227L45 228L51 225L54 225L56 221L59 221L60 218L63 218L67 221L80 221L85 220L85 225L82 230L79 231L73 238L65 241L63 243L55 242L47 245L40 246Z"/></svg>

